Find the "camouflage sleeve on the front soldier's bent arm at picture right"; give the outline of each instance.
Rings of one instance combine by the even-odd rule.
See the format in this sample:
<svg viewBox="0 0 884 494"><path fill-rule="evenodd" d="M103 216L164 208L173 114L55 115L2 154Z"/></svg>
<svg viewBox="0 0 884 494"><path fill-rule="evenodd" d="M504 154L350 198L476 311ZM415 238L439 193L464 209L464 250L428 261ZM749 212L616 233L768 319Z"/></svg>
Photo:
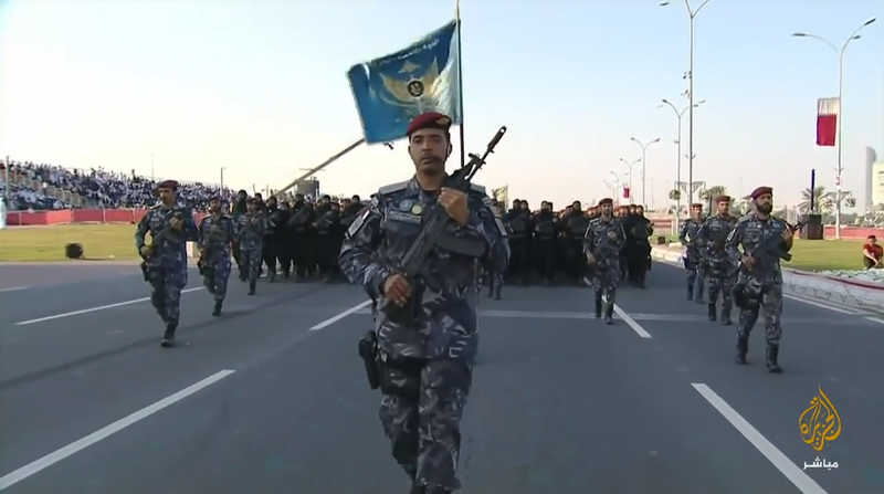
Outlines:
<svg viewBox="0 0 884 494"><path fill-rule="evenodd" d="M509 264L509 242L506 240L506 227L491 209L491 198L484 192L472 191L470 201L470 219L457 229L459 237L476 237L485 242L485 254L480 260L485 269L503 273Z"/></svg>

